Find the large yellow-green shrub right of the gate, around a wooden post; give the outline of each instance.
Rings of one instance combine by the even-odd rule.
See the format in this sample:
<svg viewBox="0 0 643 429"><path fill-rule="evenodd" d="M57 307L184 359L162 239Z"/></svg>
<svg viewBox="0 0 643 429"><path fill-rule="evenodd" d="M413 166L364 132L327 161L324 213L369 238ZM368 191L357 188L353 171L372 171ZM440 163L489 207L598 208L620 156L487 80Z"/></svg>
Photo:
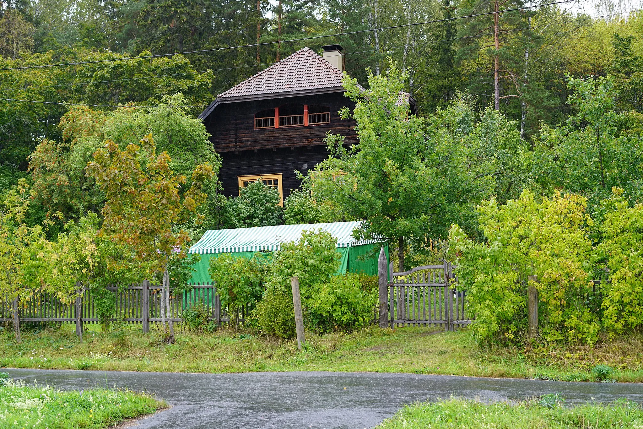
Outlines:
<svg viewBox="0 0 643 429"><path fill-rule="evenodd" d="M449 248L457 256L460 288L476 315L479 340L520 339L527 327L526 282L539 278L539 327L550 341L595 343L600 329L593 293L592 219L586 199L557 192L536 201L528 191L520 199L478 206L480 230L487 242L474 242L458 225L449 231Z"/></svg>

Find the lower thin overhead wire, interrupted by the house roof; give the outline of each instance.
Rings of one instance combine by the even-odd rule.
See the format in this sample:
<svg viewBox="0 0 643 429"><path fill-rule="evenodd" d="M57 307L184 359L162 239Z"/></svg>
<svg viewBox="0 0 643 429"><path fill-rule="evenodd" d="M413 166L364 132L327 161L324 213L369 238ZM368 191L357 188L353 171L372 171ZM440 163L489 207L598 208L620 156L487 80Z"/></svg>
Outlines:
<svg viewBox="0 0 643 429"><path fill-rule="evenodd" d="M642 9L643 10L643 9ZM633 10L631 12L638 12L638 10ZM621 14L617 14L621 15ZM611 14L608 15L601 15L597 17L586 17L586 18L580 18L580 19L574 19L571 21L557 21L553 23L547 23L547 24L541 24L538 26L530 26L530 27L522 27L522 28L514 28L512 30L504 30L504 33L509 33L509 32L518 32L522 30L534 30L535 28L541 28L541 27L546 27L546 26L551 26L551 25L562 25L562 24L570 24L570 23L577 23L580 21L588 21L596 18L601 18L601 17L606 17L606 16L611 16ZM423 46L427 44L436 44L440 42L452 42L452 41L458 41L458 40L464 40L464 39L474 39L476 37L484 37L487 35L493 35L493 33L482 33L482 34L476 34L476 35L471 35L471 36L464 36L464 37L455 37L453 39L441 39L438 41L430 41L430 42L418 42L418 43L411 43L408 46ZM403 45L399 46L389 46L386 48L386 50L390 49L395 49L395 48L403 48ZM372 50L363 50L363 51L356 51L356 52L347 52L344 53L343 55L356 55L359 53L366 53L366 52L374 52L377 51L375 49ZM257 66L271 66L274 63L264 63L264 64L252 64L249 66L237 66L237 67L228 67L228 68L221 68L221 69L206 69L206 70L201 70L201 71L188 71L185 73L172 73L169 75L150 75L150 76L141 76L141 77L132 77L132 78L124 78L124 79L112 79L112 80L93 80L93 81L86 81L86 82L74 82L71 84L59 84L59 85L42 85L42 86L28 86L28 87L23 87L23 88L6 88L6 89L0 89L0 91L23 91L28 88L51 88L51 87L69 87L69 86L80 86L80 85L91 85L91 84L105 84L105 83L111 83L111 82L124 82L124 81L129 81L129 80L139 80L139 79L149 79L149 78L156 78L156 77L170 77L170 76L178 76L178 75L191 75L194 73L205 73L206 71L224 71L224 70L235 70L235 69L242 69L242 68L254 68ZM116 105L112 107L118 107Z"/></svg>

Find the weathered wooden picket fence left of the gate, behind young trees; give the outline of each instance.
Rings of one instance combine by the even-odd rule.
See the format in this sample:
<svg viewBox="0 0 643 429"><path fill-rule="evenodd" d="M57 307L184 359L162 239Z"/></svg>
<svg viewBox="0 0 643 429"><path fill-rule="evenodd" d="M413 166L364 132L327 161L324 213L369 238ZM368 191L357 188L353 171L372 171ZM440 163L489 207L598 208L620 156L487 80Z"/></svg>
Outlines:
<svg viewBox="0 0 643 429"><path fill-rule="evenodd" d="M78 296L75 302L65 304L52 293L39 293L28 300L0 301L0 322L57 322L59 324L75 324L77 334L82 334L84 324L98 324L95 296L91 290L82 290L78 286ZM217 288L210 284L190 284L192 286L181 296L170 297L170 315L172 322L183 322L183 311L193 305L203 305L210 320L215 320L221 326L230 323L230 315L221 307ZM139 285L107 286L108 291L116 295L116 311L108 322L125 322L140 324L143 333L150 329L150 323L162 322L161 318L161 286L144 281ZM244 322L249 309L240 313L239 322ZM232 320L235 320L233 315Z"/></svg>

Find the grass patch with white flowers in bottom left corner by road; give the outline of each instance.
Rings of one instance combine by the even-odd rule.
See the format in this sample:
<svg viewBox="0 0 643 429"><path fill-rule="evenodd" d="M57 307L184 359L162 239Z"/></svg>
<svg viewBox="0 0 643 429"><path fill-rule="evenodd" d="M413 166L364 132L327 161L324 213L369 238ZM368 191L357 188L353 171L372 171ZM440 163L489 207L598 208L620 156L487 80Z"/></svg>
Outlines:
<svg viewBox="0 0 643 429"><path fill-rule="evenodd" d="M3 428L106 428L165 406L151 396L129 390L63 392L7 378L0 379L0 383Z"/></svg>

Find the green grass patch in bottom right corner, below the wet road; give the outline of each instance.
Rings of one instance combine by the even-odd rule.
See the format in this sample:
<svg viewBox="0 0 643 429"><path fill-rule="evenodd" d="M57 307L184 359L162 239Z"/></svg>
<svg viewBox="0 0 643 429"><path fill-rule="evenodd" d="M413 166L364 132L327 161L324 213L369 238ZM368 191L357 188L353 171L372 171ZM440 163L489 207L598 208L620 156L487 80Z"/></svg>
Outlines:
<svg viewBox="0 0 643 429"><path fill-rule="evenodd" d="M643 429L643 411L638 404L616 401L565 407L536 399L519 403L485 405L464 399L416 403L386 419L383 429Z"/></svg>

